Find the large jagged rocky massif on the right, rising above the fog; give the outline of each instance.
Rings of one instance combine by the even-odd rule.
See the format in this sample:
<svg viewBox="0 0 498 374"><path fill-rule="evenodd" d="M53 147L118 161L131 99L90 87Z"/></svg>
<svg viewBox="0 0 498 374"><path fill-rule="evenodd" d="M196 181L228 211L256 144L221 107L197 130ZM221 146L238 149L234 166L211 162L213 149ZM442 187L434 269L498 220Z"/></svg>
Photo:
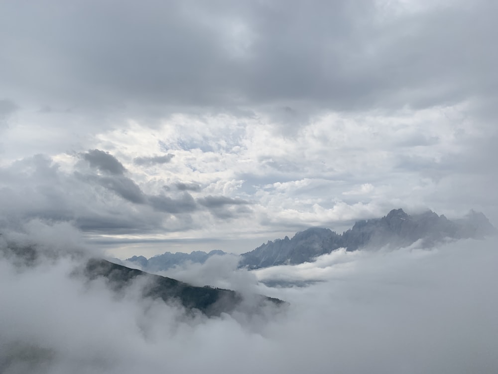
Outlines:
<svg viewBox="0 0 498 374"><path fill-rule="evenodd" d="M338 234L328 228L309 228L292 239L268 241L253 251L242 254L241 267L256 269L282 264L310 262L317 256L338 248L354 251L383 246L406 247L422 240L431 247L445 238L482 238L497 232L483 213L471 211L465 217L451 221L431 210L408 215L403 209L393 209L382 218L357 221Z"/></svg>

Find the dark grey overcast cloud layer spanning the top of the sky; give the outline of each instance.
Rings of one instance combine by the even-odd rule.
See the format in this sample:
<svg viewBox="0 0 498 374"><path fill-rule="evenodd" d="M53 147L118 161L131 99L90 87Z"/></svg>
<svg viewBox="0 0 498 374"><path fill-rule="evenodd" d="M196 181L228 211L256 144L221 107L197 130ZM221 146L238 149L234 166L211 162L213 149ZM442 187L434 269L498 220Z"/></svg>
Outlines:
<svg viewBox="0 0 498 374"><path fill-rule="evenodd" d="M493 1L397 15L367 0L1 6L5 85L58 96L55 80L80 105L249 106L290 121L497 95Z"/></svg>

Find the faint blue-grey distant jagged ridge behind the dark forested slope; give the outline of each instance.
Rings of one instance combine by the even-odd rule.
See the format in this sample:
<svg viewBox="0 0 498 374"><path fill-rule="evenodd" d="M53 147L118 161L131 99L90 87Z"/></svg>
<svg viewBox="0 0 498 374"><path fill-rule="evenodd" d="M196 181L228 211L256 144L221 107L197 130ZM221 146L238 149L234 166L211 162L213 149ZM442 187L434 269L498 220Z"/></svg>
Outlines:
<svg viewBox="0 0 498 374"><path fill-rule="evenodd" d="M191 253L165 252L163 254L150 257L149 259L146 259L143 256L133 256L126 259L126 261L139 265L144 271L154 272L167 270L176 265L181 265L187 261L203 264L211 256L223 256L225 254L225 252L220 250L214 250L209 253L203 251L193 251Z"/></svg>

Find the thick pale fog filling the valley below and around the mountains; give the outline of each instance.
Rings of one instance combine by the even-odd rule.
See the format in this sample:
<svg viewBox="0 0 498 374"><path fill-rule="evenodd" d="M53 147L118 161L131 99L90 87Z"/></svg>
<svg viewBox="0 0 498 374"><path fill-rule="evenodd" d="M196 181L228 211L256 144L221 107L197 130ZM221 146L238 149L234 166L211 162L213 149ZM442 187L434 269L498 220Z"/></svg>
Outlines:
<svg viewBox="0 0 498 374"><path fill-rule="evenodd" d="M103 280L84 279L75 270L91 248L66 224L34 222L4 231L0 242L5 374L498 371L496 240L338 250L253 272L237 270L230 256L172 269L167 275L289 303L212 318L143 300L140 284L117 294ZM30 264L9 255L9 247L35 243ZM317 282L260 282L268 279Z"/></svg>

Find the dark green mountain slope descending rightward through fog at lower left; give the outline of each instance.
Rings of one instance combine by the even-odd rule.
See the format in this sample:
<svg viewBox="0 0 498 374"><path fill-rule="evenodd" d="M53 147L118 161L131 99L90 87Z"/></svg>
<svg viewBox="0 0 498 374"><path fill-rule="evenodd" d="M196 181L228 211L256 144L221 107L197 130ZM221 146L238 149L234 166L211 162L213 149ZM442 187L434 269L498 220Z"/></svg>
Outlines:
<svg viewBox="0 0 498 374"><path fill-rule="evenodd" d="M243 301L243 296L236 291L210 286L192 286L176 279L131 269L105 259L88 259L81 251L61 253L49 247L38 248L37 245L18 245L15 242L3 244L0 245L0 259L8 261L19 272L26 272L38 266L53 266L61 259L69 260L75 265L70 276L83 282L100 278L105 280L111 290L121 293L138 281L142 297L178 302L187 310L198 309L208 316L230 313ZM250 302L244 305L250 307L251 312L257 312L259 307L265 305L266 302L275 305L286 304L281 300L262 295L250 296Z"/></svg>

